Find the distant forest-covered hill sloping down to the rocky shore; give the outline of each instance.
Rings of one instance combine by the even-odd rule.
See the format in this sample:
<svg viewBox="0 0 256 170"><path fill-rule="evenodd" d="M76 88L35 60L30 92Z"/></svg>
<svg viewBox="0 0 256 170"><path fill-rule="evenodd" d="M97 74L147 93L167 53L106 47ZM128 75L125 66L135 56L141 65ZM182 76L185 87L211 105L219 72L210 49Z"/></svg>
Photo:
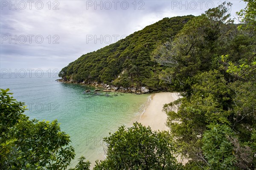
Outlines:
<svg viewBox="0 0 256 170"><path fill-rule="evenodd" d="M64 67L59 77L65 81L161 88L159 74L163 68L151 59L152 51L174 37L193 17L163 18L125 39L82 55Z"/></svg>

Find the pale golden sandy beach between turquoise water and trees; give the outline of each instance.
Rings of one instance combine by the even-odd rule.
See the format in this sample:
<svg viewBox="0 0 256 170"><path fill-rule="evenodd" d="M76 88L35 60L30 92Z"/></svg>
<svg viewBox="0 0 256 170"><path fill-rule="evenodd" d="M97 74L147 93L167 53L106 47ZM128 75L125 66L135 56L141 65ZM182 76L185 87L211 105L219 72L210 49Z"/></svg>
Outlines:
<svg viewBox="0 0 256 170"><path fill-rule="evenodd" d="M138 122L145 126L150 126L152 130L169 130L165 125L167 115L162 111L163 105L178 98L177 93L162 92L152 94L151 102Z"/></svg>

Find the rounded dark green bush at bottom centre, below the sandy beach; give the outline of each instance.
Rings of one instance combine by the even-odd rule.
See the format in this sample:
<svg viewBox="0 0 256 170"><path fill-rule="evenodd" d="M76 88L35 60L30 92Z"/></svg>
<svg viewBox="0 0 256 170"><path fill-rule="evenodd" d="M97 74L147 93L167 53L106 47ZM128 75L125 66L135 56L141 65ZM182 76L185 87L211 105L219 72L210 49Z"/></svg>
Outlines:
<svg viewBox="0 0 256 170"><path fill-rule="evenodd" d="M167 132L152 131L139 123L124 126L104 139L107 158L97 162L95 170L176 170L172 139Z"/></svg>

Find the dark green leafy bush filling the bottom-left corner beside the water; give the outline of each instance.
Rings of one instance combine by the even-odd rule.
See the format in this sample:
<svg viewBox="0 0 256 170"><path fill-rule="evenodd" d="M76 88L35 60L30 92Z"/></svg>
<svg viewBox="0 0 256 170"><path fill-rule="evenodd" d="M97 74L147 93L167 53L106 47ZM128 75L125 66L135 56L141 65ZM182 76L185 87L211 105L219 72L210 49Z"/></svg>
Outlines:
<svg viewBox="0 0 256 170"><path fill-rule="evenodd" d="M23 114L25 104L8 91L0 91L0 169L66 169L75 157L70 137L61 131L57 120L29 120ZM83 158L75 170L89 170L89 163L82 162Z"/></svg>

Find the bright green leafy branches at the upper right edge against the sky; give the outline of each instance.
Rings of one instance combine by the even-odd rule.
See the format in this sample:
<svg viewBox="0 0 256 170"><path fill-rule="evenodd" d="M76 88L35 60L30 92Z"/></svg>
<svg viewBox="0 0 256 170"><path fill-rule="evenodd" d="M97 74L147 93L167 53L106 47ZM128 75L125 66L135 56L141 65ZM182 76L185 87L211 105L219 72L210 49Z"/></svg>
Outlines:
<svg viewBox="0 0 256 170"><path fill-rule="evenodd" d="M240 39L247 40L246 44L241 43L239 48L246 51L239 58L239 61L232 61L230 55L222 55L221 59L229 74L242 81L256 82L256 1L244 0L246 8L237 12L239 21ZM240 42L240 41L239 41Z"/></svg>

